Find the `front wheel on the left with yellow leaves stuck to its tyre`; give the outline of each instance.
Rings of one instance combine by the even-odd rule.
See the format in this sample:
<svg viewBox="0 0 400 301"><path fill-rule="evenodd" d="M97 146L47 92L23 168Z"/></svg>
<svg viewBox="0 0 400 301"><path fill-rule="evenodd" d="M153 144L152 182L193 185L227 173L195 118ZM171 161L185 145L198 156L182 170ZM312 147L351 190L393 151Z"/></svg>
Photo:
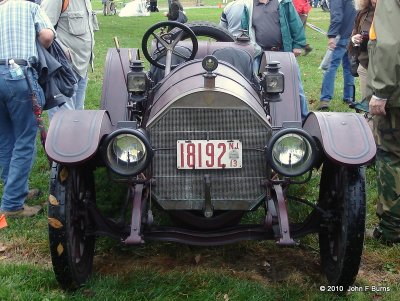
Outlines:
<svg viewBox="0 0 400 301"><path fill-rule="evenodd" d="M92 272L95 237L86 235L90 220L85 203L89 200L95 200L92 170L54 163L49 240L54 273L64 289L81 286Z"/></svg>

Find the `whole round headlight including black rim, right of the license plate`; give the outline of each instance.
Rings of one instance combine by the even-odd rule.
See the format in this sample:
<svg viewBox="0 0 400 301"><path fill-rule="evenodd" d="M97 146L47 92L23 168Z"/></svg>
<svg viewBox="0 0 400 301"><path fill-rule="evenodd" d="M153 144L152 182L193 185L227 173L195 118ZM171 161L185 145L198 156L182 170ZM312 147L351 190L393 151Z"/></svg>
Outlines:
<svg viewBox="0 0 400 301"><path fill-rule="evenodd" d="M314 164L315 155L314 139L300 129L286 129L275 134L267 152L272 168L289 177L309 171Z"/></svg>

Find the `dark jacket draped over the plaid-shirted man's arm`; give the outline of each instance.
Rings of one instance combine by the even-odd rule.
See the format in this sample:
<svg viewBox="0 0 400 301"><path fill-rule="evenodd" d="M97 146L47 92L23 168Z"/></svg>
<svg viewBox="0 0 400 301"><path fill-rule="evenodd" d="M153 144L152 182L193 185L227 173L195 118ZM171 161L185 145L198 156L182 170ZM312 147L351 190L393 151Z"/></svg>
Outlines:
<svg viewBox="0 0 400 301"><path fill-rule="evenodd" d="M38 41L36 41L36 46L38 62L35 69L39 75L39 85L45 96L43 110L49 110L63 105L68 98L72 97L77 79L64 51L56 40L49 49L45 49Z"/></svg>

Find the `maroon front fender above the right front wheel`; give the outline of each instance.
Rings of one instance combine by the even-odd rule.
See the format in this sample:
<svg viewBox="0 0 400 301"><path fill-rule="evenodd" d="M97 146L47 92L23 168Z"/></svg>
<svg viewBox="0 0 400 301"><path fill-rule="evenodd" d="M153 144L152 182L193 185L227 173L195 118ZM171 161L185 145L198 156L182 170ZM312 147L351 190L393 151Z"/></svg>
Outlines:
<svg viewBox="0 0 400 301"><path fill-rule="evenodd" d="M362 165L375 156L374 137L360 114L312 112L303 129L320 141L325 155L336 163Z"/></svg>

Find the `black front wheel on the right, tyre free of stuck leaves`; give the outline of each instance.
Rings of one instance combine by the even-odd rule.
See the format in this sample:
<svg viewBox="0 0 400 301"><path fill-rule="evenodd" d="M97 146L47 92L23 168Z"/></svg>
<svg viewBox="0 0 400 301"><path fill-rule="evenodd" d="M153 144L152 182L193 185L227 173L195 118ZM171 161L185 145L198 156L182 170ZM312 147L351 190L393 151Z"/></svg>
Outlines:
<svg viewBox="0 0 400 301"><path fill-rule="evenodd" d="M329 284L345 292L356 279L364 244L364 167L325 162L319 206L328 213L319 232L322 267Z"/></svg>

